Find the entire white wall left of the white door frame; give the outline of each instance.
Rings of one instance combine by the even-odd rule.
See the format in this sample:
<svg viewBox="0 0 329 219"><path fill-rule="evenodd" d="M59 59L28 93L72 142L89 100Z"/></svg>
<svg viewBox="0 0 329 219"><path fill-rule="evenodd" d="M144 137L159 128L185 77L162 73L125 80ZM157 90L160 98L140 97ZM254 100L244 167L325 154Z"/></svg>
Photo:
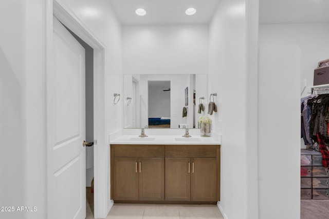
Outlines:
<svg viewBox="0 0 329 219"><path fill-rule="evenodd" d="M45 218L44 1L0 2L1 206L6 218Z"/></svg>

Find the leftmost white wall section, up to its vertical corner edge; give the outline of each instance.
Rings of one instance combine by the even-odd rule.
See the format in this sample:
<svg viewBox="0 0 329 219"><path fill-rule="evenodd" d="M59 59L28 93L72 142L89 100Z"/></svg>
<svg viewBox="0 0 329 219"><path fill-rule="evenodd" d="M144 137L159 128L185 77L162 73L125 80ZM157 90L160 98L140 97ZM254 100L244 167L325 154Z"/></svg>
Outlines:
<svg viewBox="0 0 329 219"><path fill-rule="evenodd" d="M24 206L27 203L28 193L26 190L25 1L2 1L0 18L3 33L0 34L0 136L2 139L0 206ZM27 213L1 212L4 218L19 216L26 218L26 215Z"/></svg>

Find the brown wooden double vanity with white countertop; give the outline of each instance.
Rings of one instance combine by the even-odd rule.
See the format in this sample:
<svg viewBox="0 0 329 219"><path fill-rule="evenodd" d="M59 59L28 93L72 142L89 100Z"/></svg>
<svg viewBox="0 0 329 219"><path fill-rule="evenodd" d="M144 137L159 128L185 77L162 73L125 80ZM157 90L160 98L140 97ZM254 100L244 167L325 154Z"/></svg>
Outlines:
<svg viewBox="0 0 329 219"><path fill-rule="evenodd" d="M165 138L166 144L152 137L111 144L111 199L156 204L220 201L221 145L210 139Z"/></svg>

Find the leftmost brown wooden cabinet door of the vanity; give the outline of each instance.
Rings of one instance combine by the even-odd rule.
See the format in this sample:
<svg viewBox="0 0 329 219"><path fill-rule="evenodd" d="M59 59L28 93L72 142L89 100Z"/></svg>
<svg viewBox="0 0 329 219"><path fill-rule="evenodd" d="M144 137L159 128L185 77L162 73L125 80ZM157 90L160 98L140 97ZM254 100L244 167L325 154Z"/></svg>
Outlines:
<svg viewBox="0 0 329 219"><path fill-rule="evenodd" d="M138 158L114 158L113 200L138 200Z"/></svg>

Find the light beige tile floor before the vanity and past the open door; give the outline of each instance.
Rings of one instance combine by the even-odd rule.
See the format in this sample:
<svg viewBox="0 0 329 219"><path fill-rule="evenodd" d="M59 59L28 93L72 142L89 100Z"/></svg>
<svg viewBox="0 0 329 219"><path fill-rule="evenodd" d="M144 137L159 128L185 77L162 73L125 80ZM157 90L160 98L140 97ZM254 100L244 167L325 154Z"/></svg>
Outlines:
<svg viewBox="0 0 329 219"><path fill-rule="evenodd" d="M87 191L86 219L94 219L94 198ZM114 204L106 219L224 219L217 205Z"/></svg>

